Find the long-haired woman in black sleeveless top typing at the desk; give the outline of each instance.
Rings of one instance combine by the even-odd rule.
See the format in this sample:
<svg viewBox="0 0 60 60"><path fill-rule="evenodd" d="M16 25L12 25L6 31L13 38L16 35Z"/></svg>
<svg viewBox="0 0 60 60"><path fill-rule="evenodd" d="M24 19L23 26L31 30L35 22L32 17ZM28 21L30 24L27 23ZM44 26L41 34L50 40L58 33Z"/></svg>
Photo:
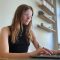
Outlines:
<svg viewBox="0 0 60 60"><path fill-rule="evenodd" d="M1 57L29 58L40 54L52 54L46 48L39 48L39 44L31 30L33 9L26 4L20 5L14 15L11 26L1 31ZM30 41L36 51L27 53Z"/></svg>

